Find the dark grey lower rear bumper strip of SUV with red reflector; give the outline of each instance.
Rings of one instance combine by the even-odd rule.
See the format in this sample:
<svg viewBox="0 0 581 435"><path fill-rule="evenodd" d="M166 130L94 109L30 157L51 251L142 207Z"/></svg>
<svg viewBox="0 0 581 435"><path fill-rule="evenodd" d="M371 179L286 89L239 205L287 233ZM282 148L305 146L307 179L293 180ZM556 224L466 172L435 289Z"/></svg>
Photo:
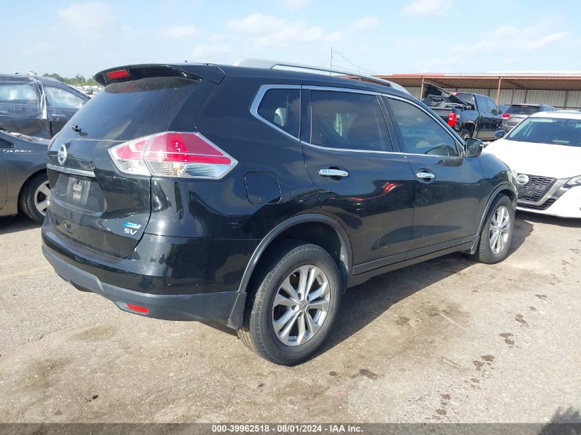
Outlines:
<svg viewBox="0 0 581 435"><path fill-rule="evenodd" d="M129 313L164 320L223 320L232 328L239 327L246 293L221 291L188 295L154 295L122 289L102 282L96 276L58 258L52 249L43 245L43 254L50 265L67 282L83 291L92 291L114 302ZM127 304L146 308L149 313L130 309Z"/></svg>

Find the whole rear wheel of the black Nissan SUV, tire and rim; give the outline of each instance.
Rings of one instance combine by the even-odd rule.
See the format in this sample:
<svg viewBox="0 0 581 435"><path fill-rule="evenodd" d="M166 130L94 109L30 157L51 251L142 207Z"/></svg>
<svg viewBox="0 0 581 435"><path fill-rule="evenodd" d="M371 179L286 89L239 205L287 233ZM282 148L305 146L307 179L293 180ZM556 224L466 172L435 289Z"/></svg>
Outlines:
<svg viewBox="0 0 581 435"><path fill-rule="evenodd" d="M281 245L254 280L239 337L275 364L294 365L325 342L335 320L341 284L325 249L300 241Z"/></svg>

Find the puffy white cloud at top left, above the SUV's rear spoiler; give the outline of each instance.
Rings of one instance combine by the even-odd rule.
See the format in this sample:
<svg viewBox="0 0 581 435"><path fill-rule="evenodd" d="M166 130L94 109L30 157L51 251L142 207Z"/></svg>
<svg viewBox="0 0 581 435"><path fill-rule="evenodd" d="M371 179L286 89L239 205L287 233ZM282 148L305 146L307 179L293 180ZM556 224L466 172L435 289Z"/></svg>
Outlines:
<svg viewBox="0 0 581 435"><path fill-rule="evenodd" d="M96 32L107 27L114 20L111 8L96 2L74 3L59 10L56 14L69 27L81 32Z"/></svg>

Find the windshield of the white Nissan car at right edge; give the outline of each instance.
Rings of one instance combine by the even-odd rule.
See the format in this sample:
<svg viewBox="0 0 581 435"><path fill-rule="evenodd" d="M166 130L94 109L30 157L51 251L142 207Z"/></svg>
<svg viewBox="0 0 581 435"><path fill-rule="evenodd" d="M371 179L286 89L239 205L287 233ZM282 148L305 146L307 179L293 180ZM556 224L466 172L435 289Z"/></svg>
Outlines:
<svg viewBox="0 0 581 435"><path fill-rule="evenodd" d="M506 138L536 144L581 146L581 120L527 118Z"/></svg>

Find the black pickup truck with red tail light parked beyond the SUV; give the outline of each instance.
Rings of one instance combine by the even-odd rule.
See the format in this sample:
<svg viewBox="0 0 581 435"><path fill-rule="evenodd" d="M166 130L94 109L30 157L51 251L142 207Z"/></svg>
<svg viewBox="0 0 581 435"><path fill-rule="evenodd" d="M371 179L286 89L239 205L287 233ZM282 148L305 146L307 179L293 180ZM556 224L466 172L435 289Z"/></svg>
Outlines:
<svg viewBox="0 0 581 435"><path fill-rule="evenodd" d="M478 93L450 93L426 83L421 98L424 104L448 122L463 139L478 137L481 140L494 140L494 132L502 128L502 111L487 96Z"/></svg>

